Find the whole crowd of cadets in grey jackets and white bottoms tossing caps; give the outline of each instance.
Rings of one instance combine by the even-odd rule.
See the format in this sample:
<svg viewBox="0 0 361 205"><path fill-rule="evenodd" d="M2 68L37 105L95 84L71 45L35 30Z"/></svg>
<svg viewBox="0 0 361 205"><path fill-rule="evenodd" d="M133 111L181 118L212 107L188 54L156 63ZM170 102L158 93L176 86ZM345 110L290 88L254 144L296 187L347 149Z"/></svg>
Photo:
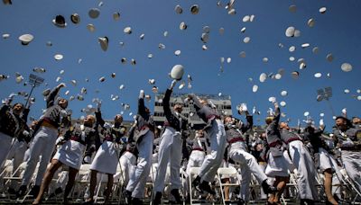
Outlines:
<svg viewBox="0 0 361 205"><path fill-rule="evenodd" d="M48 190L54 174L60 166L66 166L68 181L62 194L64 203L69 203L69 194L84 164L90 165L86 204L95 201L98 173L107 176L105 202L110 202L115 179L120 177L123 189L117 193L124 195L127 204L141 204L146 197L155 205L161 204L165 195L180 204L189 200L193 191L215 195L218 168L230 166L236 167L241 179L235 193L239 204L250 200L252 174L261 188L259 198L268 204L281 204L290 174L297 175L298 196L294 197L300 199L301 204L320 200L318 174L324 175L323 193L328 204L342 200L342 192L335 191L332 184L339 184L345 174L356 192L361 192L359 118L348 120L346 115L338 116L329 134L325 133L323 120L319 126L308 120L305 128L291 129L287 121L281 120L280 107L274 100L274 110L265 119L264 133L257 134L250 132L254 122L246 104L238 109L241 116L245 115L244 122L218 113L207 99L189 94L188 101L193 102L199 118L205 122L202 129L194 130L182 115L183 103L170 103L176 84L176 80L171 82L162 99L166 118L162 128L154 124L151 111L145 107L143 90L130 129L123 125L120 114L113 123L103 120L100 101L95 115L72 122L66 110L69 102L58 97L64 84L48 94L46 110L39 120L32 122L27 121L32 103L24 107L22 103L13 103L14 94L10 95L0 110L0 165L4 166L6 159L13 160L13 170L23 162L26 165L21 184L10 183L6 192L16 198L30 193L34 198L32 204L40 204L44 195L51 195ZM154 165L152 194L148 194L146 183ZM198 174L190 176L192 167L199 167ZM183 176L192 177L192 183L182 181ZM227 177L222 179L227 180L229 182ZM166 187L169 194L164 194ZM225 192L229 198L230 190Z"/></svg>

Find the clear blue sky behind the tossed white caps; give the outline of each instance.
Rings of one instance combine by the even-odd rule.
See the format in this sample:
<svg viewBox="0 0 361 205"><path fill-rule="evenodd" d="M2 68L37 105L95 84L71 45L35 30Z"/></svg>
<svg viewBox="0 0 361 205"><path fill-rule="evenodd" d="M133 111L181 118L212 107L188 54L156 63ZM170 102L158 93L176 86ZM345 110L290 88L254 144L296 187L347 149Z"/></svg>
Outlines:
<svg viewBox="0 0 361 205"><path fill-rule="evenodd" d="M255 124L263 124L266 111L272 104L268 102L270 96L275 96L279 102L286 102L282 108L295 125L297 119L303 120L304 111L319 120L319 113L325 113L325 122L330 128L333 125L332 113L326 102L316 101L316 91L319 88L331 86L333 97L330 99L336 114L347 108L349 116L360 116L361 101L352 95L357 94L360 87L361 71L359 53L361 49L360 23L361 2L357 0L325 1L325 0L299 0L299 1L270 1L247 0L236 1L235 15L227 14L225 5L227 1L170 1L170 0L132 0L132 1L69 1L69 0L29 0L16 1L13 4L0 4L0 33L10 34L8 39L0 39L0 74L10 76L0 82L0 98L4 99L12 92L30 92L31 87L16 84L14 73L19 72L26 79L34 67L44 67L46 72L36 74L45 78L45 83L35 88L36 103L32 105L30 116L38 118L45 103L42 101L42 90L58 85L60 82L67 87L60 92L61 96L69 98L70 95L80 93L82 87L88 89L85 100L69 103L73 117L79 118L80 112L92 99L97 97L103 100L103 113L106 119L112 119L116 113L123 111L121 103L129 103L130 111L136 112L136 100L140 89L146 94L152 93L153 85L148 79L154 78L160 91L164 91L171 83L168 73L176 64L185 67L185 73L193 78L192 88L183 88L180 92L194 92L203 94L229 94L232 96L234 112L236 104L247 103L251 109L256 106L262 111L256 116ZM174 7L180 4L183 13L174 12ZM191 14L190 6L199 4L199 13ZM291 13L289 6L295 4L297 11ZM326 13L319 13L319 8L327 7ZM100 15L91 19L88 11L98 8ZM113 13L120 13L120 20L112 18ZM69 16L79 13L80 22L70 22ZM68 26L58 28L51 22L57 14L66 18ZM254 22L243 22L245 15L255 15ZM313 18L315 26L310 28L307 21ZM187 30L179 29L180 22L186 22ZM96 30L87 30L88 23L94 24ZM202 28L210 28L207 50L202 50L203 42L200 40ZM124 28L132 27L132 34L125 34ZM287 38L284 34L289 26L301 31L298 38ZM219 33L219 28L224 33ZM242 33L240 30L245 27ZM164 37L163 32L168 31ZM24 33L31 33L34 39L28 46L21 45L18 37ZM144 39L139 36L144 33ZM98 37L107 36L109 47L106 51L100 49ZM249 43L243 39L250 37ZM46 45L47 41L52 46ZM119 42L124 42L121 46ZM165 49L159 49L162 43ZM282 43L283 48L279 47ZM301 48L302 43L310 43L310 47ZM295 46L296 50L290 52L289 48ZM313 54L312 48L318 47L319 53ZM180 56L174 51L180 49ZM245 51L246 57L241 58L239 53ZM147 58L152 53L153 58ZM326 56L332 53L334 60L329 62ZM55 60L55 54L64 56ZM231 58L230 63L221 64L220 58ZM290 61L294 57L295 61ZM81 62L79 63L79 58ZM127 63L122 64L121 58ZM130 59L136 60L136 65L130 64ZM269 58L267 63L263 58ZM299 69L297 59L304 58L307 67ZM342 63L353 66L351 72L341 70ZM220 72L220 67L224 71ZM267 79L264 83L259 81L261 73L276 74L283 68L284 75L280 80ZM64 74L60 75L60 70ZM300 78L295 80L292 71L299 71ZM315 73L321 73L315 78ZM110 75L116 73L116 78ZM327 77L327 74L330 77ZM106 80L100 83L98 79L105 76ZM85 79L88 78L88 82ZM249 78L253 78L250 82ZM76 80L78 85L70 84ZM184 77L186 79L186 77ZM119 90L119 85L125 89ZM258 85L256 93L252 86ZM349 94L344 94L349 89ZM69 95L64 93L69 90ZM96 93L99 90L99 93ZM178 90L175 89L175 92ZM288 95L281 96L282 90ZM112 101L111 94L119 95L119 100ZM153 98L154 99L154 98ZM15 97L14 102L23 102L23 98ZM93 105L95 105L93 103ZM153 101L148 103L153 107ZM125 119L131 120L130 111L125 111Z"/></svg>

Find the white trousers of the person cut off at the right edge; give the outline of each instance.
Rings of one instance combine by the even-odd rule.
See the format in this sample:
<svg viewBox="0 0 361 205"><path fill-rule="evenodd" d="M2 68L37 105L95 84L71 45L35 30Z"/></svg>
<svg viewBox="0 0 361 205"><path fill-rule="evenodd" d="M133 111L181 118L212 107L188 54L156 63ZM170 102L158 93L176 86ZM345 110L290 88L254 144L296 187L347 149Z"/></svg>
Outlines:
<svg viewBox="0 0 361 205"><path fill-rule="evenodd" d="M341 156L348 176L355 183L358 192L361 192L361 151L342 150Z"/></svg>

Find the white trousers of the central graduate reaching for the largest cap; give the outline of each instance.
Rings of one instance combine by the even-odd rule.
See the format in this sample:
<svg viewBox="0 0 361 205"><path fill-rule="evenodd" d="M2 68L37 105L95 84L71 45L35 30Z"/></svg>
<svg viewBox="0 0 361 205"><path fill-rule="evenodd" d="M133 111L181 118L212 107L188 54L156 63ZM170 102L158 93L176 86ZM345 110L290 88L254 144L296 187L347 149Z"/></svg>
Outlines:
<svg viewBox="0 0 361 205"><path fill-rule="evenodd" d="M181 146L183 140L179 131L167 127L162 134L158 151L158 170L155 177L154 192L163 192L165 174L168 163L171 168L171 190L180 189L180 163L182 158Z"/></svg>

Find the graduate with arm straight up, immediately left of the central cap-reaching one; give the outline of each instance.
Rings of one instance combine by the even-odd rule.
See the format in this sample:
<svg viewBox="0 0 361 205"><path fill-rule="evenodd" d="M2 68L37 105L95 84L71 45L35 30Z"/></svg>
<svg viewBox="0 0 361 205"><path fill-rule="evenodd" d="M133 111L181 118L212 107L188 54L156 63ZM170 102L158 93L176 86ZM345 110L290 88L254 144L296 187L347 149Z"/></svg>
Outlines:
<svg viewBox="0 0 361 205"><path fill-rule="evenodd" d="M148 108L144 105L144 91L141 90L138 99L138 113L135 118L134 131L129 130L128 142L135 143L138 150L138 160L134 173L126 186L126 203L140 204L144 197L145 183L152 167L154 121Z"/></svg>

